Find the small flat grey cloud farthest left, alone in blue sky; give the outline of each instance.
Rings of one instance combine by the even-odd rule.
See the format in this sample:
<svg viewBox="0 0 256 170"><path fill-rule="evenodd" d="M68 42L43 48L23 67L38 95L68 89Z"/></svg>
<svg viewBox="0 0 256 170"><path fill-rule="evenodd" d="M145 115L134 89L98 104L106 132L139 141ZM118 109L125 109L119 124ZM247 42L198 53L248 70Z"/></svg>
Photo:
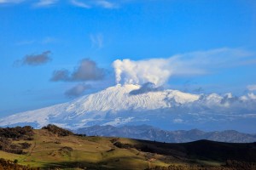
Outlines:
<svg viewBox="0 0 256 170"><path fill-rule="evenodd" d="M18 59L15 61L15 66L20 65L44 65L48 63L51 58L49 57L49 54L51 54L50 51L44 51L42 54L29 54L26 55L23 59Z"/></svg>

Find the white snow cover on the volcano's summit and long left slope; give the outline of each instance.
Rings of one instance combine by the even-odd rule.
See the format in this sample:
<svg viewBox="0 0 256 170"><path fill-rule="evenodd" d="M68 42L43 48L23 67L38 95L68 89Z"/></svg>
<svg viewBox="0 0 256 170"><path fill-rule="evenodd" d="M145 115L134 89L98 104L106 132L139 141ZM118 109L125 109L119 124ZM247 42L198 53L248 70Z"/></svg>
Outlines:
<svg viewBox="0 0 256 170"><path fill-rule="evenodd" d="M118 112L148 111L172 107L199 99L195 94L184 94L177 90L148 92L146 94L129 94L140 88L138 85L126 84L107 88L96 94L89 94L60 105L53 105L35 111L26 111L0 120L0 126L15 124L32 124L42 127L48 123L64 127L83 127L89 122L101 121L107 113L119 117Z"/></svg>

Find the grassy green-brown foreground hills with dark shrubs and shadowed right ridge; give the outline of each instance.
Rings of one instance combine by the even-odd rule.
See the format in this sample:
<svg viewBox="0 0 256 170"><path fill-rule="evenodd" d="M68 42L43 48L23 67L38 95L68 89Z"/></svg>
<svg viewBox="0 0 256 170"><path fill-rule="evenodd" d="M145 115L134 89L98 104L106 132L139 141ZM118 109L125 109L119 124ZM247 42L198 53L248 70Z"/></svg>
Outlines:
<svg viewBox="0 0 256 170"><path fill-rule="evenodd" d="M6 136L7 133L0 128L0 157L41 169L255 168L255 143L229 144L201 140L165 144L59 132L61 128L56 131L32 129L31 133L23 133L17 138L17 134ZM15 153L15 150L21 152Z"/></svg>

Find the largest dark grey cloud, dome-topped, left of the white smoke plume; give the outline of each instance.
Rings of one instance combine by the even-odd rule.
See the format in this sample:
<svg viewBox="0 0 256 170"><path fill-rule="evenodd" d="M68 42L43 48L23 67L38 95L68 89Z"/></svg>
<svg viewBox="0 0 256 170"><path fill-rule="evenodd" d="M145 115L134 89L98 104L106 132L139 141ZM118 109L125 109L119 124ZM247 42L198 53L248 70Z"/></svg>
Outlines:
<svg viewBox="0 0 256 170"><path fill-rule="evenodd" d="M53 82L84 82L101 80L104 76L104 70L98 68L94 61L83 59L72 73L67 70L54 71L50 80Z"/></svg>

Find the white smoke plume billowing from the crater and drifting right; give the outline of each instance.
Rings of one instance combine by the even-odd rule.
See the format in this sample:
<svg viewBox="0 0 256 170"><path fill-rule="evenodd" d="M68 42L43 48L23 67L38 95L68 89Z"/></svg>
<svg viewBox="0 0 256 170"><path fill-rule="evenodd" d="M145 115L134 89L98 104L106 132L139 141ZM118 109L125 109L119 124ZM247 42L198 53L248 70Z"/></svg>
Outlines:
<svg viewBox="0 0 256 170"><path fill-rule="evenodd" d="M236 48L218 48L188 54L177 54L166 59L117 59L113 62L117 83L143 84L153 82L160 86L175 76L204 75L226 67L251 64L253 54Z"/></svg>

